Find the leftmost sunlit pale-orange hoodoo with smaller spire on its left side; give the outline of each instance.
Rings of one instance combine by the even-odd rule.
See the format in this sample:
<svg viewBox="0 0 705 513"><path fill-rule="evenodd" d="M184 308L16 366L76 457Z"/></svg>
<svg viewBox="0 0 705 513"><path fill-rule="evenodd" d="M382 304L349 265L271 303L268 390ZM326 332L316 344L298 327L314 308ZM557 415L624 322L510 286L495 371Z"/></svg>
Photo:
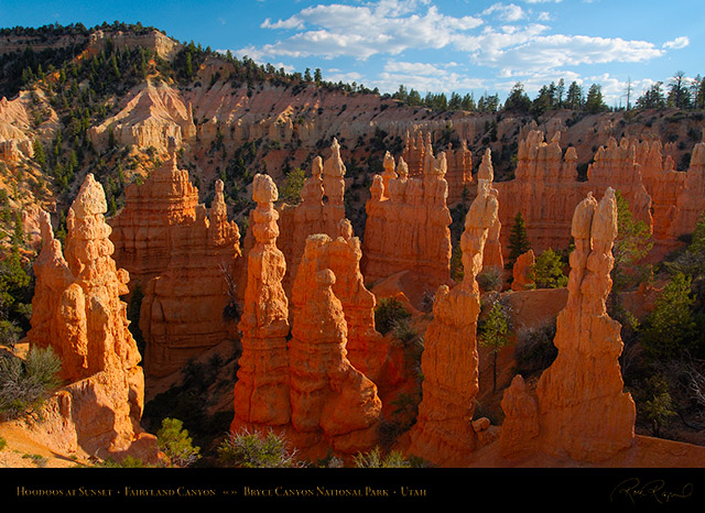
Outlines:
<svg viewBox="0 0 705 513"><path fill-rule="evenodd" d="M65 443L88 454L153 459L155 439L140 428L141 357L120 301L129 275L112 260L106 211L102 187L89 174L68 210L64 252L48 215L42 216L28 340L54 349L69 383L50 405L47 429L61 432Z"/></svg>

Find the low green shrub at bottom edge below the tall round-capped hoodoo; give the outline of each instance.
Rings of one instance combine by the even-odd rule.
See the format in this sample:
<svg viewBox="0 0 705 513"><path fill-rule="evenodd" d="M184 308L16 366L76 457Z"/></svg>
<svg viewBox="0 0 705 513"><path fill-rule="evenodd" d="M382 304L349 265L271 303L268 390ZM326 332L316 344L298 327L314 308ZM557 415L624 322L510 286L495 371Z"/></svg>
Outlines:
<svg viewBox="0 0 705 513"><path fill-rule="evenodd" d="M224 467L288 468L299 467L296 451L290 450L283 436L273 430L230 433L218 446L218 461Z"/></svg>

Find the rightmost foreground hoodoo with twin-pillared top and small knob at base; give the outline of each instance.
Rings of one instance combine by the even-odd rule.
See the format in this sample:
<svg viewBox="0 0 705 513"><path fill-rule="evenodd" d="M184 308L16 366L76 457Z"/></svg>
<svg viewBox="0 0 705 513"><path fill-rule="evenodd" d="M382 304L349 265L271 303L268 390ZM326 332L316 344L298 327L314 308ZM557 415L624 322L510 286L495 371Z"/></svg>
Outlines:
<svg viewBox="0 0 705 513"><path fill-rule="evenodd" d="M634 443L636 407L622 391L618 360L621 326L605 306L617 236L611 188L599 204L590 194L581 201L572 236L568 302L558 314L554 338L558 354L536 386L538 424L527 424L534 415L520 381L508 391L502 404L509 423L508 434L502 435L507 456L538 448L576 461L599 462ZM519 422L523 427L518 427Z"/></svg>

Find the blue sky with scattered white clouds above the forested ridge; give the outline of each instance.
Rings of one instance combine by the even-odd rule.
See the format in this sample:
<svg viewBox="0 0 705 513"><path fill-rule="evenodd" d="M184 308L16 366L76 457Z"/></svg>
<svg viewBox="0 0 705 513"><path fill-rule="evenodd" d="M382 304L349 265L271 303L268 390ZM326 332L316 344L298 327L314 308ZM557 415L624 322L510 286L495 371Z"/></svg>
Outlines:
<svg viewBox="0 0 705 513"><path fill-rule="evenodd" d="M703 0L0 0L0 26L141 22L182 42L382 92L530 97L564 78L609 105L677 70L705 75Z"/></svg>

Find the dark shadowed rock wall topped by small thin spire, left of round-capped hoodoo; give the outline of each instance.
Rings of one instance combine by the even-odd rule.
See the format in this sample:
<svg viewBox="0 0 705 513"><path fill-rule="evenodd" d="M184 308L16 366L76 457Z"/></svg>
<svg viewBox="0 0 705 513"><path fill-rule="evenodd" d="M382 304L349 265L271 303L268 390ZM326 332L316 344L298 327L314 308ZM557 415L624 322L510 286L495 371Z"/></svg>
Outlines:
<svg viewBox="0 0 705 513"><path fill-rule="evenodd" d="M169 264L144 287L140 313L144 370L156 376L177 371L232 335L237 319L228 319L225 309L234 301L240 232L228 221L223 182L216 181L209 216L198 205L195 219L174 225L166 242Z"/></svg>

